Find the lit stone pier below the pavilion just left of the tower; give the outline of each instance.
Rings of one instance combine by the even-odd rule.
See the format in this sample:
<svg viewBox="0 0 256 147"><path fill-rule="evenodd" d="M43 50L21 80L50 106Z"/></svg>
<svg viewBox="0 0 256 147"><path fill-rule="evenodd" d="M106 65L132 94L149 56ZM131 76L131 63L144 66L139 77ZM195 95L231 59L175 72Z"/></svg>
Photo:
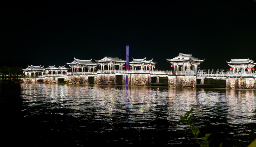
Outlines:
<svg viewBox="0 0 256 147"><path fill-rule="evenodd" d="M98 74L97 85L116 85L115 74Z"/></svg>

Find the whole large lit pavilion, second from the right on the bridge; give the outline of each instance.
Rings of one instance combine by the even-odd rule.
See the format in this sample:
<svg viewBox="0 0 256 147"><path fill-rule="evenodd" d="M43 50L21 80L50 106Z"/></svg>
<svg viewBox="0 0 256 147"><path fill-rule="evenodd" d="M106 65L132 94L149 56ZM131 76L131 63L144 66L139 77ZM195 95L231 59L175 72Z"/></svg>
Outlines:
<svg viewBox="0 0 256 147"><path fill-rule="evenodd" d="M185 71L186 69L192 69L193 71L197 71L200 63L204 62L204 60L199 60L193 57L191 54L183 54L180 53L177 57L173 59L166 59L167 62L170 62L173 65L173 71L179 71L179 67L181 67L180 71Z"/></svg>

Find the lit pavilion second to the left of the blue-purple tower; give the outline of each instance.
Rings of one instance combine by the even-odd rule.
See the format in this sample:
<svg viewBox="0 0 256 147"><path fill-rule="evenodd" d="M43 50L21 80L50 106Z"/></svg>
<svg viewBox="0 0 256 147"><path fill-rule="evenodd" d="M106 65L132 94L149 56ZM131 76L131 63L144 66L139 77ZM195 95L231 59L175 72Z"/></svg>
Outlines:
<svg viewBox="0 0 256 147"><path fill-rule="evenodd" d="M73 73L73 71L78 72L79 68L82 69L82 72L85 72L85 68L87 68L88 72L91 72L91 69L93 68L93 72L94 72L94 69L97 67L97 65L99 65L99 64L92 62L92 59L91 60L80 60L80 59L76 59L75 57L74 57L74 59L75 60L73 62L67 63L67 65L69 65L69 67L71 67L72 73Z"/></svg>

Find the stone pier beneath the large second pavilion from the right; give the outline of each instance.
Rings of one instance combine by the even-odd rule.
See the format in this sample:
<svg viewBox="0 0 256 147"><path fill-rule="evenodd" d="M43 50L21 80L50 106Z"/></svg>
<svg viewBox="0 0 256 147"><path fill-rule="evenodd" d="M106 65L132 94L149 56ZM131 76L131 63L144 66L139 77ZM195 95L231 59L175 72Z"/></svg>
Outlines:
<svg viewBox="0 0 256 147"><path fill-rule="evenodd" d="M168 76L170 87L196 87L196 76L187 78L186 76Z"/></svg>

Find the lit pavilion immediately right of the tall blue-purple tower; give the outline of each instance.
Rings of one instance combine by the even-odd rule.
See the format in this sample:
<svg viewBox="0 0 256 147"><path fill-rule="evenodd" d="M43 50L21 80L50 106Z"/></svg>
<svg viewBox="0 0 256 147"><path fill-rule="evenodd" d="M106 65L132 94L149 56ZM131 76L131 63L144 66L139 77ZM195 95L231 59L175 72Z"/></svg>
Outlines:
<svg viewBox="0 0 256 147"><path fill-rule="evenodd" d="M131 62L128 62L132 68L130 68L131 70L136 70L136 67L139 67L141 72L142 72L142 69L145 68L145 70L151 70L153 71L153 67L156 65L156 62L152 62L153 59L151 60L146 60L146 57L143 58L143 59L134 59L132 58L133 60Z"/></svg>

